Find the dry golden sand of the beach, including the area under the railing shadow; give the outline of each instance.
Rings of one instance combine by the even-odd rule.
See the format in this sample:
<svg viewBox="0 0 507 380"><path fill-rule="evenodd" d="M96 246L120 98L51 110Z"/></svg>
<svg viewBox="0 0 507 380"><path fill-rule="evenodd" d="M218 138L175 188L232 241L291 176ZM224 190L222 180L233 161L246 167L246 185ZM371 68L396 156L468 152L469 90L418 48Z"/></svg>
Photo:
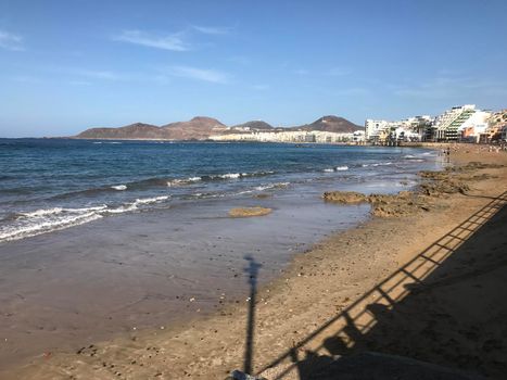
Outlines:
<svg viewBox="0 0 507 380"><path fill-rule="evenodd" d="M507 165L506 153L473 145L451 159ZM373 217L316 244L256 289L254 304L241 300L208 318L75 353L41 353L0 378L223 379L243 368L250 306L253 371L268 379L309 379L337 355L363 351L505 378L507 166L479 167L454 170L469 190L427 194L428 210ZM255 286L252 265L245 280Z"/></svg>

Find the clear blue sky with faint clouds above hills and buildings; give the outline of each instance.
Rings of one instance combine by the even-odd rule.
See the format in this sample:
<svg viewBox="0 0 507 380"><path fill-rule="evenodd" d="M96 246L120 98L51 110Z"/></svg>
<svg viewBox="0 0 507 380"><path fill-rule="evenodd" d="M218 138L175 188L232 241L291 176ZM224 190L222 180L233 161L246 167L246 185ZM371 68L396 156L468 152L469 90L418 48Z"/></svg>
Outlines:
<svg viewBox="0 0 507 380"><path fill-rule="evenodd" d="M0 0L0 137L507 106L507 1Z"/></svg>

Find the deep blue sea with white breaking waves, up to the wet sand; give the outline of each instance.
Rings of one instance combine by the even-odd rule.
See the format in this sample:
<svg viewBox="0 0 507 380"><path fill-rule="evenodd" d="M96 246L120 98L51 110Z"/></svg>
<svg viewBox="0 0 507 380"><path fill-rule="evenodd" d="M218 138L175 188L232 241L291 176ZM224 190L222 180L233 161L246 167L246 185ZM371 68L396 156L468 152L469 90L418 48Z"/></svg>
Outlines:
<svg viewBox="0 0 507 380"><path fill-rule="evenodd" d="M433 152L420 149L0 139L0 243L308 183L389 192L428 166Z"/></svg>

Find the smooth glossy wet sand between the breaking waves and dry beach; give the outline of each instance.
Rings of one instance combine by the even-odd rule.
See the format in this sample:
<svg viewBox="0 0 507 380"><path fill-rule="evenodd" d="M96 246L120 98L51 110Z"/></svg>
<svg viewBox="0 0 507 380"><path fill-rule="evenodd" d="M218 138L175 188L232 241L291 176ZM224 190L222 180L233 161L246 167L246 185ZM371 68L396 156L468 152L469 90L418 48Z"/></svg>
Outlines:
<svg viewBox="0 0 507 380"><path fill-rule="evenodd" d="M229 217L230 207L249 204L276 212ZM296 252L367 213L351 206L337 215L317 193L274 191L265 200L188 202L2 244L0 368L208 315L248 294L245 255L264 266L258 281L267 282Z"/></svg>

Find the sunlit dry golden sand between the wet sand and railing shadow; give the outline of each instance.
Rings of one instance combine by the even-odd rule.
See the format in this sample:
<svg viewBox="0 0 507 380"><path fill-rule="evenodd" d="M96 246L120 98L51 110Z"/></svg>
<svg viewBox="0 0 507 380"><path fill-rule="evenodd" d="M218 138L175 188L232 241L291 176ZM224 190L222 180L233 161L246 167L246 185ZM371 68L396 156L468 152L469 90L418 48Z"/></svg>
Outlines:
<svg viewBox="0 0 507 380"><path fill-rule="evenodd" d="M468 155L459 159L452 154L451 160L459 164L460 160L462 163L467 159L477 159L473 153ZM503 153L486 155L492 160L500 157L505 164ZM498 192L497 189L487 190L487 183L496 183L498 189L498 186L505 189L505 167L481 172L503 174L500 178L486 178L471 183L479 186L478 190L483 195L495 195L495 190ZM281 271L280 278L255 292L258 302L255 304L254 369L259 370L279 353L304 340L315 328L332 318L333 314L400 267L401 263L411 258L421 246L434 241L436 235L445 233L451 225L486 203L484 199L473 199L462 205L465 200L460 197L466 195L449 195L439 201L423 218L417 215L371 218L356 228L325 239L309 252L296 255L289 267ZM462 205L462 208L449 215L446 210L452 207L453 202ZM429 231L430 228L435 231ZM410 236L410 241L414 240L411 245L404 246L400 236L394 236L393 240L397 241L385 241L394 231ZM413 237L415 232L421 231ZM397 244L393 246L393 243ZM337 251L341 253L337 254ZM334 289L330 279L341 283L341 289ZM129 340L98 343L79 353L41 355L30 365L5 372L4 376L7 379L14 373L34 379L64 376L104 379L148 376L164 379L182 376L225 378L232 369L242 367L248 305L246 300L240 305L229 304L216 315L189 322L190 328L185 328L183 324L165 331L132 332ZM313 343L305 344L306 349L313 349ZM269 371L279 370L280 366ZM271 378L270 373L264 375Z"/></svg>

